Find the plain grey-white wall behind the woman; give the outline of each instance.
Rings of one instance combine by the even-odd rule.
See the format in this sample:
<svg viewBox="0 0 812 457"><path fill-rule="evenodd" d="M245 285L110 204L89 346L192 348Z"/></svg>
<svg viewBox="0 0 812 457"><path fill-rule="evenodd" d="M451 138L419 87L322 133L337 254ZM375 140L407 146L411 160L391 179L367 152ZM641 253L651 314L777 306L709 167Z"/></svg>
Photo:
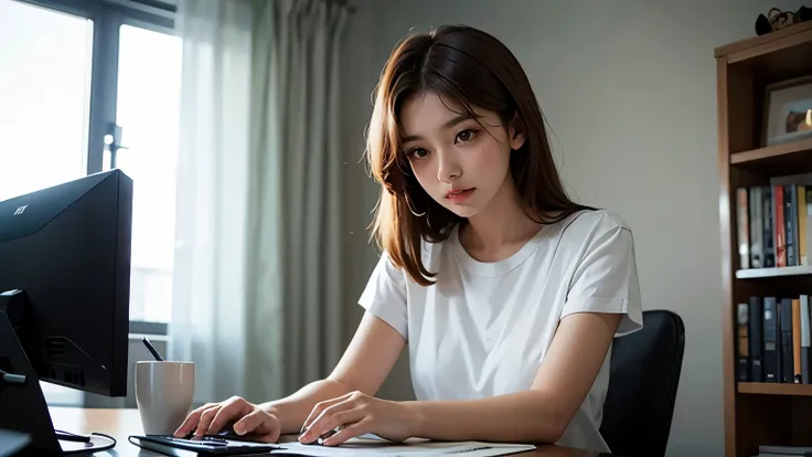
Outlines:
<svg viewBox="0 0 812 457"><path fill-rule="evenodd" d="M723 453L714 47L755 35L758 13L801 3L355 1L348 109L360 110L349 120L352 135L368 118L370 92L388 52L412 28L480 26L522 62L551 124L568 188L583 202L626 217L634 232L644 308L671 309L685 321L671 456ZM363 193L361 208L372 209L374 188L355 189ZM364 267L356 281L364 281L372 257L368 246L359 246ZM404 362L384 395L410 395Z"/></svg>

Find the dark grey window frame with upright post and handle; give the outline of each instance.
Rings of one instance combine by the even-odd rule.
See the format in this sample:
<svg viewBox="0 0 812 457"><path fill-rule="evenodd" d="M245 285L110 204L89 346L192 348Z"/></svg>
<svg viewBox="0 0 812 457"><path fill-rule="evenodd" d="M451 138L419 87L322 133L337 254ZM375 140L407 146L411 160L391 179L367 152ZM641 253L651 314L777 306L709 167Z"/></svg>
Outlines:
<svg viewBox="0 0 812 457"><path fill-rule="evenodd" d="M116 121L119 28L131 25L178 35L177 0L15 0L93 21L90 113L85 173L103 171L105 142ZM129 332L167 336L169 325L130 319Z"/></svg>

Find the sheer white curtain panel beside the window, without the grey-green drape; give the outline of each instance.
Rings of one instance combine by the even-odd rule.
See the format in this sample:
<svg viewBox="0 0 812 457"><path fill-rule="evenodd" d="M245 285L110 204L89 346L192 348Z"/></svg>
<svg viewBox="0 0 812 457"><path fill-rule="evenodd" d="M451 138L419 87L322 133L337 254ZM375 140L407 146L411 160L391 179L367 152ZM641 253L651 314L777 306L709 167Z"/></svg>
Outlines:
<svg viewBox="0 0 812 457"><path fill-rule="evenodd" d="M183 39L169 352L195 362L195 403L244 394L252 6L179 3Z"/></svg>

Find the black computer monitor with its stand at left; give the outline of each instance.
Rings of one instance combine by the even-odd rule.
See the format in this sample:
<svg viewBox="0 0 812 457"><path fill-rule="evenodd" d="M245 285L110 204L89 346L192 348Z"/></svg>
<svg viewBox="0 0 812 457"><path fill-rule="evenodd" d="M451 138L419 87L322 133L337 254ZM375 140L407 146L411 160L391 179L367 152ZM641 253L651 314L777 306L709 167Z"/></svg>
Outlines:
<svg viewBox="0 0 812 457"><path fill-rule="evenodd" d="M118 169L0 202L0 428L38 455L62 454L39 381L127 394L131 215Z"/></svg>

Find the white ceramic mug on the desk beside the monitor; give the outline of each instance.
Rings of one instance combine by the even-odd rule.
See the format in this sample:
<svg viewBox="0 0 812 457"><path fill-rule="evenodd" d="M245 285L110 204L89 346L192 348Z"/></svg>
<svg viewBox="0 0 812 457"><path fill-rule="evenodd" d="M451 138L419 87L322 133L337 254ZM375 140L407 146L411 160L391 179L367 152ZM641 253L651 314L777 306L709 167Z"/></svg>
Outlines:
<svg viewBox="0 0 812 457"><path fill-rule="evenodd" d="M145 435L172 435L192 407L194 363L136 362L135 387Z"/></svg>

